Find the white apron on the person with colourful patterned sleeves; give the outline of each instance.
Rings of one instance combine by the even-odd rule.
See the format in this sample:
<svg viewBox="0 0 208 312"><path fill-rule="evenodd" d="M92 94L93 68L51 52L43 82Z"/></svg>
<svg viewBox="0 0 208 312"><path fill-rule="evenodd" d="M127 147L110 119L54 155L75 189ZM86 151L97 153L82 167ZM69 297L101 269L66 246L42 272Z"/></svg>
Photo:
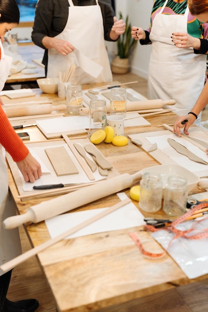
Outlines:
<svg viewBox="0 0 208 312"><path fill-rule="evenodd" d="M148 96L150 99L175 99L178 115L186 115L197 101L205 83L206 55L194 54L193 48L177 48L173 32L187 32L189 8L184 15L162 14L168 0L153 21L150 39ZM195 124L200 124L200 117Z"/></svg>

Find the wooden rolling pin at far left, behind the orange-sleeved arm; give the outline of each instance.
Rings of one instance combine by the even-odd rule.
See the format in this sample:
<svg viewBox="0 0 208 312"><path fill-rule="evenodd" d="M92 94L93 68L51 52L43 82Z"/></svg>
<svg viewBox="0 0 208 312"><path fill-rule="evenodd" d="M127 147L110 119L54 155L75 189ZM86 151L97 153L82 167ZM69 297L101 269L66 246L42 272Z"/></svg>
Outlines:
<svg viewBox="0 0 208 312"><path fill-rule="evenodd" d="M5 105L6 106L6 105ZM21 106L21 107L3 107L7 117L20 117L30 115L50 114L52 111L65 111L66 105L61 104L52 106L51 104Z"/></svg>

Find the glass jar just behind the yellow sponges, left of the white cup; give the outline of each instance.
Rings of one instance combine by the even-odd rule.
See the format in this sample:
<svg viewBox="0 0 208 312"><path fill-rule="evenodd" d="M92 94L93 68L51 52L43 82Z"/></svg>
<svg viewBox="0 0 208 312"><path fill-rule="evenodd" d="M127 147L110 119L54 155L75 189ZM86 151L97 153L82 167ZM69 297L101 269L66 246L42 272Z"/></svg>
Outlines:
<svg viewBox="0 0 208 312"><path fill-rule="evenodd" d="M89 135L106 127L107 107L105 100L91 100L89 106Z"/></svg>

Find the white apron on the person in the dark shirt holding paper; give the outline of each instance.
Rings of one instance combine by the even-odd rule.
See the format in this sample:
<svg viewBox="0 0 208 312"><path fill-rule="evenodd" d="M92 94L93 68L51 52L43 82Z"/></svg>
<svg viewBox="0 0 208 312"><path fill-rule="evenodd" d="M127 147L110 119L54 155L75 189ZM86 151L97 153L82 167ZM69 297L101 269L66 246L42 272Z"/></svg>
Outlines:
<svg viewBox="0 0 208 312"><path fill-rule="evenodd" d="M103 67L101 74L94 78L79 67L74 52L63 56L55 49L48 50L47 77L58 77L59 71L66 72L72 65L77 68L73 84L112 81L110 62L104 40L103 18L100 5L75 6L69 2L68 20L63 31L56 38L69 41L86 57Z"/></svg>

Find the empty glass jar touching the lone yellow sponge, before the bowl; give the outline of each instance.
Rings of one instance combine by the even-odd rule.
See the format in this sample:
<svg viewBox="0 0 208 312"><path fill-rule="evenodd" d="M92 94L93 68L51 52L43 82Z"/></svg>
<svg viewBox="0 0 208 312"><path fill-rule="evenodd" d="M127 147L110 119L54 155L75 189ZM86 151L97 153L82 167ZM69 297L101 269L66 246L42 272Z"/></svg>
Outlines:
<svg viewBox="0 0 208 312"><path fill-rule="evenodd" d="M162 206L163 183L161 175L145 172L140 181L139 207L146 212L156 212Z"/></svg>

